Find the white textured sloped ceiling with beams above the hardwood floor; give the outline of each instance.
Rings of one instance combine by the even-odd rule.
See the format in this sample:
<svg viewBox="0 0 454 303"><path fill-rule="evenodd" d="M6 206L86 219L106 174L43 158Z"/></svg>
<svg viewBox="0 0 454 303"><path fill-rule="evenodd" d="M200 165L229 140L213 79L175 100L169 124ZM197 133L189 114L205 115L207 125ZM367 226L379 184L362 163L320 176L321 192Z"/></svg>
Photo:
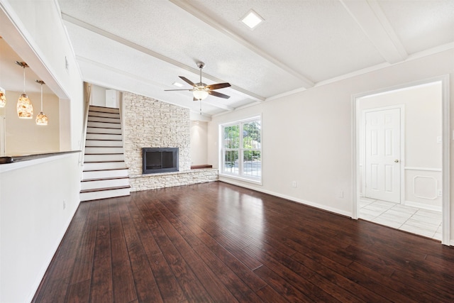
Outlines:
<svg viewBox="0 0 454 303"><path fill-rule="evenodd" d="M199 111L172 83L230 82L204 115L454 48L454 0L57 0L84 81ZM250 9L265 21L250 30ZM182 82L185 84L184 82ZM189 88L188 84L186 87Z"/></svg>

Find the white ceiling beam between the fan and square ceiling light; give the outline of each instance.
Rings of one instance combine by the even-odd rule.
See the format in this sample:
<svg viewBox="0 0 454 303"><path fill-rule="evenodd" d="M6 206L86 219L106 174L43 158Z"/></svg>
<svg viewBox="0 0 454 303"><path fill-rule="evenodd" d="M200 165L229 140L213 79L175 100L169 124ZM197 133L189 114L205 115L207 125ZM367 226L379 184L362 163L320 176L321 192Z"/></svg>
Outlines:
<svg viewBox="0 0 454 303"><path fill-rule="evenodd" d="M228 38L231 38L232 40L235 40L237 43L240 43L240 45L243 45L245 48L252 50L256 55L259 55L268 62L271 62L272 64L276 65L285 72L288 72L290 75L297 77L297 79L301 81L302 87L306 89L314 87L315 84L311 79L305 77L304 75L301 75L299 72L293 70L291 67L284 65L284 63L277 60L272 55L265 53L263 50L253 45L248 40L245 40L244 38L240 37L240 35L237 35L236 33L233 33L232 31L228 30L228 28L222 26L221 23L218 23L218 21L214 20L214 18L211 18L203 11L200 11L199 9L196 9L194 6L192 6L192 4L189 4L189 1L185 0L169 0L169 1L175 4L176 6L179 6L181 9L184 9L184 11L187 11L188 13L192 14L192 16L208 24L209 26L211 26L211 28L216 29L216 31L222 33L223 35L226 35Z"/></svg>

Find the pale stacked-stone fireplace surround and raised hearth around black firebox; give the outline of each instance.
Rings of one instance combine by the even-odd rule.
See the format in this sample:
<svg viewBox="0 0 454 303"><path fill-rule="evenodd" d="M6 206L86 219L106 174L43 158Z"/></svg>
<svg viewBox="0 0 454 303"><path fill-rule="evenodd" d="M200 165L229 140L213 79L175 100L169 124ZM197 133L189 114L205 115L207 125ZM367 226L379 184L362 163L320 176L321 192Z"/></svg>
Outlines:
<svg viewBox="0 0 454 303"><path fill-rule="evenodd" d="M121 111L131 192L218 180L217 169L191 170L189 109L124 92ZM177 170L144 173L143 148L168 146L178 149Z"/></svg>

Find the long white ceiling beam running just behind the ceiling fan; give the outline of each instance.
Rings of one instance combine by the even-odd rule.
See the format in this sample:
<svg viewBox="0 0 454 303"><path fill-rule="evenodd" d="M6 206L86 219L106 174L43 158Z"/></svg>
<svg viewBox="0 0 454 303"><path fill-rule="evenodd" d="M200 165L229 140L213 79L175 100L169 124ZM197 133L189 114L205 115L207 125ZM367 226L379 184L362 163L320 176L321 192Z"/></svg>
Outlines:
<svg viewBox="0 0 454 303"><path fill-rule="evenodd" d="M96 33L98 35L102 35L105 38L114 40L116 43L120 43L120 44L126 45L126 46L128 46L130 48L138 50L139 52L142 52L142 53L145 53L147 55L153 56L153 57L155 57L155 58L157 58L159 60L162 60L164 62L167 62L167 63L169 63L171 65L175 65L175 66L177 66L179 68L182 68L183 70L187 70L188 72L193 72L194 74L199 75L199 69L184 65L181 62L178 62L177 60L173 60L170 57L166 57L165 55L162 55L160 53L156 53L155 51L150 50L149 48L145 48L142 45L138 45L137 43L133 43L130 40L127 40L125 38L121 38L118 35L115 35L113 33L109 33L108 31L104 31L103 29L97 28L96 26L93 26L92 24L89 24L89 23L86 23L84 21L81 21L81 20L79 20L77 18L74 18L72 16L69 16L69 15L67 15L65 13L62 13L62 19L64 21L70 22L70 23L72 23L72 24L74 24L76 26L84 28L87 31L92 31L93 33ZM213 77L213 76L211 76L209 74L206 74L206 73L204 73L204 77L207 78L207 79L210 79L211 81L214 81L214 82L226 82L223 79L218 79L218 78ZM230 88L236 90L238 93L243 94L243 95L247 96L248 98L250 98L250 99L252 99L254 101L265 101L265 97L262 97L262 96L260 96L258 94L254 94L253 92L249 92L248 90L243 89L241 87L238 87L236 85L232 85Z"/></svg>

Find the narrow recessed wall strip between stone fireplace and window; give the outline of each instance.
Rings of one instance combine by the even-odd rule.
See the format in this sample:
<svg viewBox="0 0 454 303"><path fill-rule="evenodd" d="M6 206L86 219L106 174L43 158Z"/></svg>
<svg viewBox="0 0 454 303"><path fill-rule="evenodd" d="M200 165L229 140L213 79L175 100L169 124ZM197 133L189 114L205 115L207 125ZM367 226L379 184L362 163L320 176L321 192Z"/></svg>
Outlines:
<svg viewBox="0 0 454 303"><path fill-rule="evenodd" d="M204 121L191 121L191 165L211 164L208 161L206 132L208 124Z"/></svg>

